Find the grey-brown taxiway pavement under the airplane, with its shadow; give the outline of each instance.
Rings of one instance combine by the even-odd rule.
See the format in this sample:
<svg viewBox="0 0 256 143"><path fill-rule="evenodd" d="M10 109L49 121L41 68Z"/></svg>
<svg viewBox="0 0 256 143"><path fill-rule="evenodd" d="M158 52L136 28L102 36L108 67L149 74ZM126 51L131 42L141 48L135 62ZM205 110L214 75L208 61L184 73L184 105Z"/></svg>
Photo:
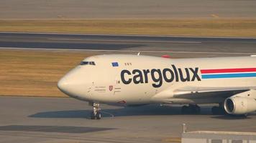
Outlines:
<svg viewBox="0 0 256 143"><path fill-rule="evenodd" d="M164 142L189 131L256 132L256 114L242 117L180 114L180 107L111 107L101 104L103 118L91 120L87 102L71 98L0 97L0 142Z"/></svg>

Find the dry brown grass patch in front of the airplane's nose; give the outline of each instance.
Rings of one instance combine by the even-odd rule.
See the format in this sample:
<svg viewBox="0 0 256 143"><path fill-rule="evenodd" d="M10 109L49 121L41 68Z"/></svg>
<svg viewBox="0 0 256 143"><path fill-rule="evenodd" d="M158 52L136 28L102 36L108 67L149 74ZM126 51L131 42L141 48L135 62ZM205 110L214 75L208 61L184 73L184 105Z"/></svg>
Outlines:
<svg viewBox="0 0 256 143"><path fill-rule="evenodd" d="M0 50L0 95L66 97L57 82L91 54L81 51Z"/></svg>

